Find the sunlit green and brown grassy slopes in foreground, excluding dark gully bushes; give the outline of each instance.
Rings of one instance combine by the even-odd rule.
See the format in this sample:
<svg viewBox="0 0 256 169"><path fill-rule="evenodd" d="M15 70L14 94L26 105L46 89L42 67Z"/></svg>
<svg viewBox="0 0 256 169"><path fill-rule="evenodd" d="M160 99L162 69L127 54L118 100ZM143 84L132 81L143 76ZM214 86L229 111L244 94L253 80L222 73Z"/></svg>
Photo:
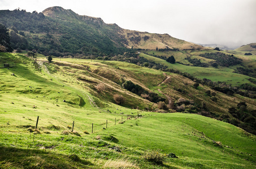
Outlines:
<svg viewBox="0 0 256 169"><path fill-rule="evenodd" d="M118 61L49 64L19 54L0 56L14 65L0 69L0 168L256 168L255 135L198 114L144 111L154 105L117 83L125 77L162 95L172 90L160 83L160 70ZM183 82L168 75L174 86ZM97 92L99 83L105 91ZM210 100L203 95L209 88L190 90ZM114 94L125 97L122 106ZM174 91L172 96L180 97ZM245 97L216 97L255 109L255 101ZM219 104L209 101L209 109L227 111L224 105L217 109ZM162 160L149 160L149 154Z"/></svg>

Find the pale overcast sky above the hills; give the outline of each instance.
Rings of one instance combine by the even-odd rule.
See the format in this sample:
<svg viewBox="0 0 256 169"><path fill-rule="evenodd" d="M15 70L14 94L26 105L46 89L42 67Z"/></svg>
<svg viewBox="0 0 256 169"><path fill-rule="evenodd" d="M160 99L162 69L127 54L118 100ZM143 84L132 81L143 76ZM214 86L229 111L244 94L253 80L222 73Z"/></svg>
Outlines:
<svg viewBox="0 0 256 169"><path fill-rule="evenodd" d="M0 0L0 10L42 12L52 6L194 43L238 47L256 42L256 0Z"/></svg>

